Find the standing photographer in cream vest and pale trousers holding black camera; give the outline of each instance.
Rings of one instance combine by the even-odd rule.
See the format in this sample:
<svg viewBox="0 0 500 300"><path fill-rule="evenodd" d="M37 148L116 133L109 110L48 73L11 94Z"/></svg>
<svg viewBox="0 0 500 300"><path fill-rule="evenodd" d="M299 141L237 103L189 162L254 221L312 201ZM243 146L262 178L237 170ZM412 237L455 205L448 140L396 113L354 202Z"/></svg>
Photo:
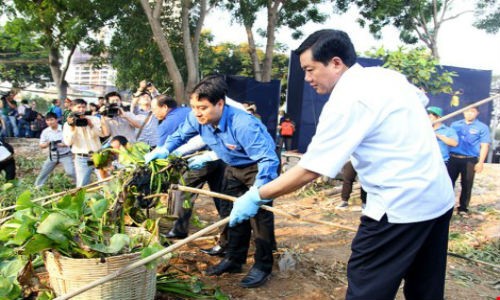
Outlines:
<svg viewBox="0 0 500 300"><path fill-rule="evenodd" d="M92 153L101 149L99 137L109 135L106 122L94 116L85 116L87 102L83 99L73 100L71 114L63 127L64 144L71 146L75 155L76 186L81 187L90 182Z"/></svg>

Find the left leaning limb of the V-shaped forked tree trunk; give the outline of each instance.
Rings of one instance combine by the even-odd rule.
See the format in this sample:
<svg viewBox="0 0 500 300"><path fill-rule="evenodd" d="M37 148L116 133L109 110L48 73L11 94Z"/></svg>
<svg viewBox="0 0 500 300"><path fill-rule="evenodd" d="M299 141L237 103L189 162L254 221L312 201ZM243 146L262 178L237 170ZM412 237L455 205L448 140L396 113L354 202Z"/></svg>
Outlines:
<svg viewBox="0 0 500 300"><path fill-rule="evenodd" d="M153 31L153 37L158 44L158 48L160 49L163 61L167 66L168 75L174 85L175 98L177 101L184 101L184 81L182 79L181 72L179 71L179 68L175 63L170 45L168 44L168 41L163 33L163 29L160 23L161 13L155 13L155 16L153 16L148 0L141 0L141 5L144 9L144 12L146 13L146 16L148 17L149 25L151 26L151 30ZM155 4L155 12L160 11L161 5L162 0L157 0Z"/></svg>

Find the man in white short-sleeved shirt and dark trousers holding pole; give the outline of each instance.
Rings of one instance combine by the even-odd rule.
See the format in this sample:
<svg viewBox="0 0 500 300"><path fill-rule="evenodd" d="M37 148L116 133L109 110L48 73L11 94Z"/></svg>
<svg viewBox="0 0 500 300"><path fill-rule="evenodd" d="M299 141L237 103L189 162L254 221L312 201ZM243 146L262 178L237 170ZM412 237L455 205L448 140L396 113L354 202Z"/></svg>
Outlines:
<svg viewBox="0 0 500 300"><path fill-rule="evenodd" d="M347 266L347 299L443 299L454 193L422 93L406 78L356 64L349 36L320 30L295 50L305 80L330 94L297 166L238 198L230 225L351 158L368 197ZM425 97L426 99L426 97ZM426 101L424 101L426 102Z"/></svg>

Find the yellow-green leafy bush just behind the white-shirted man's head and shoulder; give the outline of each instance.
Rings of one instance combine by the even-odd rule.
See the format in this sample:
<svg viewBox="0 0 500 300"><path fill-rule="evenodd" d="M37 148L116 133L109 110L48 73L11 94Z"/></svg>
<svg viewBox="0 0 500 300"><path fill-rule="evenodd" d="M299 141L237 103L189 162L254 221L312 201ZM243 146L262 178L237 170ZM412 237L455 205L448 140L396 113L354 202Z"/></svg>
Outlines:
<svg viewBox="0 0 500 300"><path fill-rule="evenodd" d="M438 61L425 48L406 50L399 47L396 51L379 48L365 53L368 57L384 61L384 67L404 74L408 81L426 92L451 94L455 72L441 68Z"/></svg>

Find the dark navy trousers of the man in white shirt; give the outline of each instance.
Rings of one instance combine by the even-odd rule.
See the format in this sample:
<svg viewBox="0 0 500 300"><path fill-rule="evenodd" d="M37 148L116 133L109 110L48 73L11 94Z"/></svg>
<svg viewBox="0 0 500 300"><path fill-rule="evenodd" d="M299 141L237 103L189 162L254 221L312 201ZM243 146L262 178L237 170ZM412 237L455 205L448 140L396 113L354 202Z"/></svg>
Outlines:
<svg viewBox="0 0 500 300"><path fill-rule="evenodd" d="M394 299L402 279L407 300L443 299L452 212L409 224L362 216L347 265L346 299Z"/></svg>

